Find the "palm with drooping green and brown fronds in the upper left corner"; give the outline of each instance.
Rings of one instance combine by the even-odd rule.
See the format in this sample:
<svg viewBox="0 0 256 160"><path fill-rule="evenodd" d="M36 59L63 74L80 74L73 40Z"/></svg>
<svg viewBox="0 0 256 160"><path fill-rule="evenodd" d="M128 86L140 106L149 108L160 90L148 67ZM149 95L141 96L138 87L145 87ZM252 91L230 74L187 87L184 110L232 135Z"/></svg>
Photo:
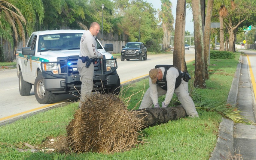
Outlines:
<svg viewBox="0 0 256 160"><path fill-rule="evenodd" d="M0 36L14 46L14 57L19 38L25 46L26 33L29 35L34 31L36 23L41 24L43 18L41 0L0 0Z"/></svg>

